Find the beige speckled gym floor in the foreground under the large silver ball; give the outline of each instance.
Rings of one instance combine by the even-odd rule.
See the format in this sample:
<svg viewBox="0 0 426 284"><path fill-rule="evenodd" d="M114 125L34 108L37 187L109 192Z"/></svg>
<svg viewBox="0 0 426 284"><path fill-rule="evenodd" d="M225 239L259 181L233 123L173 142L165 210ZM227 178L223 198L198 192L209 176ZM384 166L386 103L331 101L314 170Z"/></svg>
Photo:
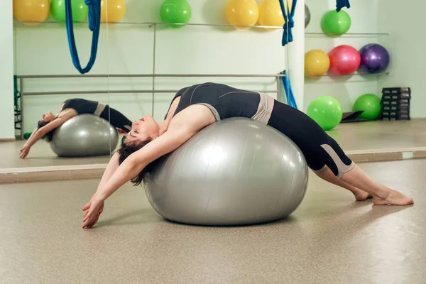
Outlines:
<svg viewBox="0 0 426 284"><path fill-rule="evenodd" d="M99 179L0 185L0 283L425 283L426 160L360 166L415 204L355 202L310 173L288 219L187 226L128 184L84 230Z"/></svg>

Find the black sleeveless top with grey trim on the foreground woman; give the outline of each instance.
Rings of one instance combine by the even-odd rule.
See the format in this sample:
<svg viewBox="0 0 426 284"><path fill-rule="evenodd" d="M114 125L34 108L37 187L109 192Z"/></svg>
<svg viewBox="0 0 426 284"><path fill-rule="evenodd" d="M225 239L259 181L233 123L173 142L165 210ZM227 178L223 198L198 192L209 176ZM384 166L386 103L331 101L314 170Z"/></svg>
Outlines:
<svg viewBox="0 0 426 284"><path fill-rule="evenodd" d="M236 89L226 84L195 84L180 89L173 99L179 96L180 102L173 116L192 104L203 104L212 111L217 121L240 116L263 121L266 124L273 109L272 97Z"/></svg>

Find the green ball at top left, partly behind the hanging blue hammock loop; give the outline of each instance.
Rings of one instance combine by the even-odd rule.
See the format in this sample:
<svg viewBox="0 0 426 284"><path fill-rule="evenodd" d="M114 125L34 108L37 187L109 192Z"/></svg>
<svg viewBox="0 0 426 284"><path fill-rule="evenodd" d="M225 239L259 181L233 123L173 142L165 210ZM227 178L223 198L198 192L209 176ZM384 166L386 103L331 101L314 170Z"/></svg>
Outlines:
<svg viewBox="0 0 426 284"><path fill-rule="evenodd" d="M84 0L72 0L72 21L82 22L87 16L87 5L84 4ZM55 21L65 22L65 0L52 0L50 3L50 13L52 14Z"/></svg>

